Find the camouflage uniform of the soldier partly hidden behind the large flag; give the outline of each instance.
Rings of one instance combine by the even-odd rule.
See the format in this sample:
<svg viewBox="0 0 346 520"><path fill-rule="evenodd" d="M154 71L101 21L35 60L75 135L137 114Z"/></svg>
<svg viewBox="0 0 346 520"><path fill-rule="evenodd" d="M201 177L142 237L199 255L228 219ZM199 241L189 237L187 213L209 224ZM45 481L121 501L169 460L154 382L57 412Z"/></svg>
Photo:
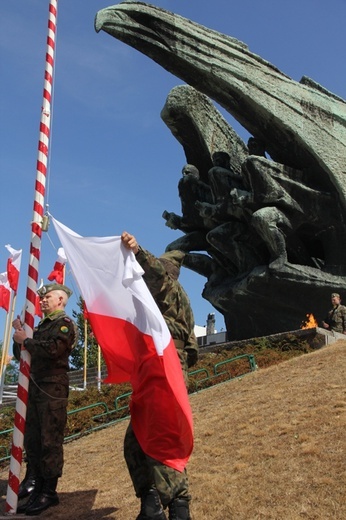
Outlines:
<svg viewBox="0 0 346 520"><path fill-rule="evenodd" d="M140 248L136 259L145 271L143 278L174 339L187 382L188 367L194 365L198 358L198 345L190 301L176 279L181 262L174 260L174 254L179 258L180 252L171 253L159 259ZM181 253L181 261L183 256ZM131 423L125 435L124 455L138 498L155 487L164 507L174 498L191 499L186 470L179 472L147 456L138 444Z"/></svg>

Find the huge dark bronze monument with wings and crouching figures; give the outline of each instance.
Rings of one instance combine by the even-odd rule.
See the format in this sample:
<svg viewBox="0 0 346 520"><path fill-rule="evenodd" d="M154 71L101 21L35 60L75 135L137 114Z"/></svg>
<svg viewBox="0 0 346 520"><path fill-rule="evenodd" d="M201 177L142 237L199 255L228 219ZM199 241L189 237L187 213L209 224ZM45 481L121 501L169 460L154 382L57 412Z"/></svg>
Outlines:
<svg viewBox="0 0 346 520"><path fill-rule="evenodd" d="M167 249L187 251L186 267L206 277L203 297L230 339L321 319L346 286L346 102L153 5L105 8L95 28L187 83L161 113L192 166L179 181L182 216L163 213L183 233ZM247 144L211 99L253 136Z"/></svg>

